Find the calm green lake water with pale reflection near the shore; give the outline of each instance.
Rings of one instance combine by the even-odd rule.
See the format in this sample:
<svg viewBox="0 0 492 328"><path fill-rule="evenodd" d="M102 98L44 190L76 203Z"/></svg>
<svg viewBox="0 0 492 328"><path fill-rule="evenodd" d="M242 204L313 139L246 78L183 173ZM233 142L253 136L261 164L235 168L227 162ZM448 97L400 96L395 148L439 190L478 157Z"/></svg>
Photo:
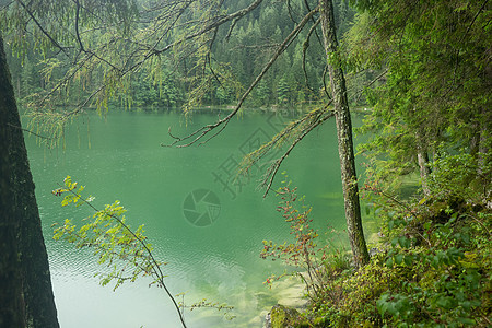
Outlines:
<svg viewBox="0 0 492 328"><path fill-rule="evenodd" d="M109 285L101 286L93 277L101 268L91 251L51 239L52 223L91 213L84 208L61 208L61 199L51 195L67 175L86 186L86 192L95 197L94 206L119 200L128 210L130 225L145 224L156 257L168 263L164 271L173 294L187 292L186 304L208 298L235 307L233 321L213 309L186 312L188 327L261 327L277 301L297 302L295 282L271 290L263 284L270 273L283 269L278 261L260 259L261 242L291 237L276 211L279 199L273 192L262 198L257 190L260 169L254 169L248 179L234 179L243 154L271 139L290 117L245 114L207 144L160 145L172 142L168 127L183 136L212 122L216 115L196 114L186 122L172 112L110 112L105 119L90 113L69 127L65 150L47 150L27 138L62 328L179 327L163 290L149 288L147 280L115 292ZM281 169L288 171L313 206L313 224L320 231L344 229L336 140L335 122L327 121L305 138ZM281 180L279 174L277 187ZM368 236L375 224L370 219L364 223Z"/></svg>

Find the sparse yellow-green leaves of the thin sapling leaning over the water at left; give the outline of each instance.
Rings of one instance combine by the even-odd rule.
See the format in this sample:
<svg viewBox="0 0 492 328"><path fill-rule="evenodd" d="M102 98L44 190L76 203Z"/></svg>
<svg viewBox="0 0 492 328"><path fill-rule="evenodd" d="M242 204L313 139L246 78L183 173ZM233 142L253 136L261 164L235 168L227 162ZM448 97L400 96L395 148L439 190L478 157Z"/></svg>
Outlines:
<svg viewBox="0 0 492 328"><path fill-rule="evenodd" d="M65 195L61 206L73 203L75 207L90 204L93 197L83 198L84 186L72 183L70 176L65 179L65 187L54 190L57 196ZM63 239L74 244L77 248L94 249L94 255L98 257L98 263L109 268L109 272L101 272L101 283L106 285L114 282L114 290L124 282L133 282L138 278L147 276L153 277L151 284L163 283L163 276L160 266L163 262L155 261L151 251L152 245L147 242L143 235L143 225L132 231L126 223L126 209L119 201L107 204L104 210L96 210L95 213L85 219L85 224L78 227L72 220L67 219L63 224L56 227L54 238Z"/></svg>

